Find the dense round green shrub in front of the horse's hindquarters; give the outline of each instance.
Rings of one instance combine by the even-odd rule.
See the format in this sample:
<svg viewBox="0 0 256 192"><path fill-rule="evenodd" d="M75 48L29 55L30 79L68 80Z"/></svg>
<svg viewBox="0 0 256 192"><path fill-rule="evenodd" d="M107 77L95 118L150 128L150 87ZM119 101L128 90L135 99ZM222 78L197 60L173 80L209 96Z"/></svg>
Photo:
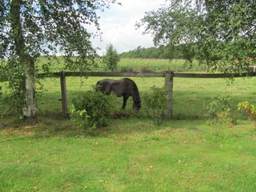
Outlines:
<svg viewBox="0 0 256 192"><path fill-rule="evenodd" d="M114 95L107 96L98 90L86 91L84 96L72 100L72 121L84 128L107 126L114 98Z"/></svg>

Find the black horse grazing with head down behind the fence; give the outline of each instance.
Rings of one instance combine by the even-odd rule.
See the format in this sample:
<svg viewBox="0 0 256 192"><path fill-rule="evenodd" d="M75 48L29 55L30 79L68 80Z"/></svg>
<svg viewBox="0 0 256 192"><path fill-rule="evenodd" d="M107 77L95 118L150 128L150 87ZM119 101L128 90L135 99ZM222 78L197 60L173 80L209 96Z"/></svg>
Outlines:
<svg viewBox="0 0 256 192"><path fill-rule="evenodd" d="M133 97L135 110L140 110L140 93L137 85L130 78L121 80L103 79L97 82L98 89L105 94L114 93L117 97L123 96L122 109L125 108L129 96Z"/></svg>

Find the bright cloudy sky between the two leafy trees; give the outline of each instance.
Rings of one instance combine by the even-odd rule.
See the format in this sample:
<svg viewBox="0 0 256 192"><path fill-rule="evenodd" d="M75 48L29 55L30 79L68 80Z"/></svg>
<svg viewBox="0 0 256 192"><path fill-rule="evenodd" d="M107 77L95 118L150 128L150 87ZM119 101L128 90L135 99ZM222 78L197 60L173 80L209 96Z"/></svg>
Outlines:
<svg viewBox="0 0 256 192"><path fill-rule="evenodd" d="M151 34L142 34L143 28L136 29L135 23L143 18L146 11L156 10L165 0L118 0L121 5L112 4L109 9L98 13L102 41L92 39L92 46L98 47L99 55L106 53L106 47L111 43L118 53L128 52L137 48L153 46Z"/></svg>

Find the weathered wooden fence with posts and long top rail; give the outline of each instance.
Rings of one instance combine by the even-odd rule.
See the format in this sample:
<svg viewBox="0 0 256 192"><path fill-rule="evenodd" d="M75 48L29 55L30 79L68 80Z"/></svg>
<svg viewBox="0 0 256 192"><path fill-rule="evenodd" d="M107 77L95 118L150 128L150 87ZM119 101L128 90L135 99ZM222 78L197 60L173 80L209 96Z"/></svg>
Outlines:
<svg viewBox="0 0 256 192"><path fill-rule="evenodd" d="M256 72L252 73L174 73L173 71L163 72L54 72L51 74L38 74L38 77L60 77L62 111L64 115L68 115L67 93L66 93L66 77L165 77L165 90L167 91L168 109L165 115L172 118L172 90L173 77L187 77L187 78L223 78L223 77L256 77Z"/></svg>

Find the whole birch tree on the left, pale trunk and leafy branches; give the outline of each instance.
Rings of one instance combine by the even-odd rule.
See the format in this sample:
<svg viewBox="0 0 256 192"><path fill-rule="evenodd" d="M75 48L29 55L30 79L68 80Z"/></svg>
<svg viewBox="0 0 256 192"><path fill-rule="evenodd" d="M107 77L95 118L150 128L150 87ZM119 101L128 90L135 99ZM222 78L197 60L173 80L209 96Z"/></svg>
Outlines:
<svg viewBox="0 0 256 192"><path fill-rule="evenodd" d="M35 116L36 59L61 53L68 69L86 70L96 55L86 27L99 30L97 10L110 3L116 0L1 1L0 77L8 80L23 116Z"/></svg>

